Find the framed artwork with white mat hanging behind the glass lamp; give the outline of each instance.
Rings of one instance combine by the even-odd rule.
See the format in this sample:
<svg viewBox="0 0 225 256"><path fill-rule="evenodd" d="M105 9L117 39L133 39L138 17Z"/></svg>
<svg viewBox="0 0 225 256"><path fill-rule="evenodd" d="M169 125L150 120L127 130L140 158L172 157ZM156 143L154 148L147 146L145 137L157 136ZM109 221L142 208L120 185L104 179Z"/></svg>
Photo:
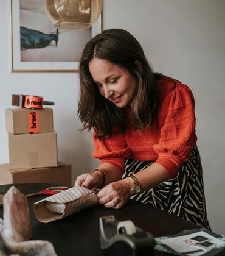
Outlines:
<svg viewBox="0 0 225 256"><path fill-rule="evenodd" d="M90 29L57 29L43 0L10 0L12 72L74 72L85 44L101 32L101 15Z"/></svg>

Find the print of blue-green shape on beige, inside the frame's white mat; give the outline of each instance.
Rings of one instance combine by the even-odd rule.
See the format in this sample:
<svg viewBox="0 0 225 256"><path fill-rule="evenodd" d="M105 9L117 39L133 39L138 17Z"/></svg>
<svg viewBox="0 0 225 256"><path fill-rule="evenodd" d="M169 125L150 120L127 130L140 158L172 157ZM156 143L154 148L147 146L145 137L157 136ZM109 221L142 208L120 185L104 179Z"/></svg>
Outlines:
<svg viewBox="0 0 225 256"><path fill-rule="evenodd" d="M21 62L78 62L91 29L56 29L43 0L19 0Z"/></svg>

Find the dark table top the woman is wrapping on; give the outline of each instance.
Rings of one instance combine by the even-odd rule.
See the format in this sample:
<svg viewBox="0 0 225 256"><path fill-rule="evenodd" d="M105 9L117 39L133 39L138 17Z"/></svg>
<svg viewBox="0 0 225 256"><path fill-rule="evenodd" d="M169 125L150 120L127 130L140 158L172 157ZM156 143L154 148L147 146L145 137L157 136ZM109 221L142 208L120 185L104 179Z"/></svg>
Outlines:
<svg viewBox="0 0 225 256"><path fill-rule="evenodd" d="M22 193L29 194L41 191L55 184L14 184ZM5 194L12 186L1 185L0 194ZM175 235L184 229L198 229L192 222L186 221L170 213L151 207L148 204L129 200L119 210L105 208L95 204L81 212L74 213L59 221L50 223L39 222L33 212L32 205L46 196L29 197L30 219L33 228L33 240L50 241L58 256L103 255L100 249L99 217L114 215L119 221L130 219L137 227L147 230L154 237ZM0 217L3 218L2 207ZM155 251L156 256L168 256L164 252ZM225 255L224 251L218 256Z"/></svg>

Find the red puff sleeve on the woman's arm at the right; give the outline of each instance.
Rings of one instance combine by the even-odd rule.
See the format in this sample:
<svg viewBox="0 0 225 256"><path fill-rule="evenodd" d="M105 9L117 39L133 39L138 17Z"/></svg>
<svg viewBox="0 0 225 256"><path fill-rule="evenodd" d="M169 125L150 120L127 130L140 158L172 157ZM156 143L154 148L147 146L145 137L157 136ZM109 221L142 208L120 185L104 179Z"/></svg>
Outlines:
<svg viewBox="0 0 225 256"><path fill-rule="evenodd" d="M154 145L156 163L167 169L168 177L175 176L188 160L196 144L195 100L187 85L179 84L164 101L159 110L159 143Z"/></svg>

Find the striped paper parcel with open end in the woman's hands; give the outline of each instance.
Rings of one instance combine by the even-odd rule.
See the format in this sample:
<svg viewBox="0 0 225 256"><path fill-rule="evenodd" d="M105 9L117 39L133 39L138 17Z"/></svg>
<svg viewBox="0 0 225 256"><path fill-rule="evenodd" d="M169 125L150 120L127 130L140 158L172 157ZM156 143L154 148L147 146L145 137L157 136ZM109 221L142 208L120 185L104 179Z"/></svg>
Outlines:
<svg viewBox="0 0 225 256"><path fill-rule="evenodd" d="M33 210L38 221L48 223L80 212L97 202L94 191L75 186L35 202Z"/></svg>

